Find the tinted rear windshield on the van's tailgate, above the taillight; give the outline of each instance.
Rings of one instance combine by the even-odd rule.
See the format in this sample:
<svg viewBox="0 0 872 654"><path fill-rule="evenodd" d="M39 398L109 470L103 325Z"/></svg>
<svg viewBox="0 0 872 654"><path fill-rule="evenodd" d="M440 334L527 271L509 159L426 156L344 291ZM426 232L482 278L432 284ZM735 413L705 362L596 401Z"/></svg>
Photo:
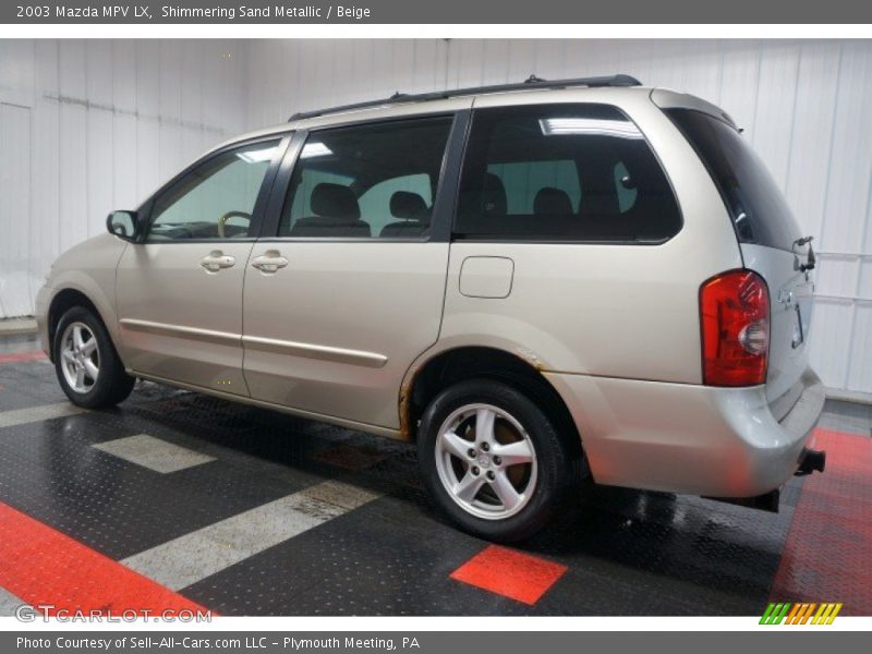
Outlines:
<svg viewBox="0 0 872 654"><path fill-rule="evenodd" d="M791 250L802 234L766 166L738 130L692 109L667 109L714 179L740 243Z"/></svg>

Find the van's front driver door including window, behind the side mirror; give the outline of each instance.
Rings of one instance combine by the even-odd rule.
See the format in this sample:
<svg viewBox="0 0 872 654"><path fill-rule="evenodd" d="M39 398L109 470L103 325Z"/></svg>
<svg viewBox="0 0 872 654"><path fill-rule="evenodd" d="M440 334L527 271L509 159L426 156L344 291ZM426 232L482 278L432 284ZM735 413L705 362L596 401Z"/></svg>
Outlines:
<svg viewBox="0 0 872 654"><path fill-rule="evenodd" d="M278 146L221 150L155 198L145 240L128 246L117 277L121 344L136 373L249 395L242 282Z"/></svg>

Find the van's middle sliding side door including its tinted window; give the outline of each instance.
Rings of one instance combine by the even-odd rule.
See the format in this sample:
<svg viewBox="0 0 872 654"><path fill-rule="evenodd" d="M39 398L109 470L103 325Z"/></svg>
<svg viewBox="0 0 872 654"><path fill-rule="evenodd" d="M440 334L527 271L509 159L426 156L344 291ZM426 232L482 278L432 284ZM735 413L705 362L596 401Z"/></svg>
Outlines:
<svg viewBox="0 0 872 654"><path fill-rule="evenodd" d="M437 186L453 118L313 131L245 272L253 398L399 428L403 375L439 334ZM278 185L278 184L277 184Z"/></svg>

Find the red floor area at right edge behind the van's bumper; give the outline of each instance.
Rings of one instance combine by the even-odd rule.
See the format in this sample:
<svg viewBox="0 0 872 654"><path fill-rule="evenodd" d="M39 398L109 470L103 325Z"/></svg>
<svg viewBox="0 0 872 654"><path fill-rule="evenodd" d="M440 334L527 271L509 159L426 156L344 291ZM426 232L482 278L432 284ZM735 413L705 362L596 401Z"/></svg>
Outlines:
<svg viewBox="0 0 872 654"><path fill-rule="evenodd" d="M872 438L818 429L826 471L802 484L773 602L841 602L840 615L872 615Z"/></svg>

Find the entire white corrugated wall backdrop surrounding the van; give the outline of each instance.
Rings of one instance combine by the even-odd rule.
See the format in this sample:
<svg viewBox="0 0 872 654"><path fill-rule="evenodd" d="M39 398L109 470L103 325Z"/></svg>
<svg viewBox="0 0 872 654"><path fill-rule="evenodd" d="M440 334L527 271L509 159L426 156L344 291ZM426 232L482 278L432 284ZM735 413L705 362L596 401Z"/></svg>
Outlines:
<svg viewBox="0 0 872 654"><path fill-rule="evenodd" d="M109 50L95 51L99 48ZM225 52L232 56L222 59ZM7 64L10 57L29 63L17 69ZM98 80L111 83L92 88L92 75L82 72L92 66L104 71ZM804 231L815 237L820 269L814 365L829 387L872 393L868 40L0 41L0 100L31 112L25 118L14 108L4 111L0 140L24 138L26 125L32 134L29 197L19 195L27 185L24 180L2 182L16 199L0 193L0 284L9 284L23 269L35 279L59 247L102 229L110 206L130 206L130 198L142 197L177 161L241 124L257 128L281 122L298 110L395 90L516 82L531 73L566 77L614 72L700 95L746 129ZM134 73L137 80L131 87ZM4 87L27 80L33 80L31 104L8 100ZM46 89L58 88L63 90L60 95L80 99L83 94L106 96L107 84L110 105L121 101L118 88L129 89L126 107L141 100L150 104L140 116L129 116L46 97L51 94ZM218 98L220 102L211 105ZM168 120L158 118L165 116ZM192 134L199 134L201 142ZM0 152L5 150L2 143ZM60 145L60 156L55 144ZM83 155L83 149L90 154ZM125 157L130 152L135 155ZM109 155L111 166L106 164ZM16 156L0 155L0 166L9 167L4 161ZM44 174L46 168L53 174ZM112 180L109 187L104 179ZM8 234L15 232L7 211L27 204L33 222L27 240L15 241L13 235L8 242ZM65 227L59 230L59 225ZM9 256L22 258L9 265ZM21 292L29 298L32 290ZM29 305L25 301L17 306L21 311ZM3 311L0 307L0 316Z"/></svg>

